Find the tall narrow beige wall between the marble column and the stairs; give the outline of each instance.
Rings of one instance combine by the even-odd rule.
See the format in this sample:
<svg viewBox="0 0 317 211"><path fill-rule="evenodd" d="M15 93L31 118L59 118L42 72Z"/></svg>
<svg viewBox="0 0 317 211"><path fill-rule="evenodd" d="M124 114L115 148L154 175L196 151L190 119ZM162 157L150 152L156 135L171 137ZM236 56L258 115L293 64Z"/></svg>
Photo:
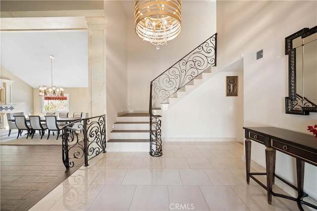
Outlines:
<svg viewBox="0 0 317 211"><path fill-rule="evenodd" d="M107 137L118 112L127 110L126 15L120 1L105 1Z"/></svg>

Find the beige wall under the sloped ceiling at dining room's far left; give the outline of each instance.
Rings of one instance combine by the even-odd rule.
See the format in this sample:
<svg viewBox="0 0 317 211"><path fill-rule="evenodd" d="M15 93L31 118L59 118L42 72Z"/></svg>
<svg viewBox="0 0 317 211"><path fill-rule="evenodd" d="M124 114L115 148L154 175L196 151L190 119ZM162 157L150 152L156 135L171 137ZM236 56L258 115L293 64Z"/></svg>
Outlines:
<svg viewBox="0 0 317 211"><path fill-rule="evenodd" d="M11 99L14 104L14 111L23 111L24 114L33 112L33 88L18 78L9 70L1 67L0 78L14 81L12 84Z"/></svg>

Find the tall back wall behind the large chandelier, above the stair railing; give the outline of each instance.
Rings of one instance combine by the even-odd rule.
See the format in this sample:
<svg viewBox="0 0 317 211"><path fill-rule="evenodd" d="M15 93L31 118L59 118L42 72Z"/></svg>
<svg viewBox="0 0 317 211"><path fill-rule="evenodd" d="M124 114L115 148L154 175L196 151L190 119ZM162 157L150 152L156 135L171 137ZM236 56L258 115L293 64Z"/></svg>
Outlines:
<svg viewBox="0 0 317 211"><path fill-rule="evenodd" d="M182 1L183 11L191 11L189 2ZM150 82L216 33L215 2L194 3L201 7L182 16L180 35L160 50L136 35L133 17L128 17L128 110L149 110Z"/></svg>

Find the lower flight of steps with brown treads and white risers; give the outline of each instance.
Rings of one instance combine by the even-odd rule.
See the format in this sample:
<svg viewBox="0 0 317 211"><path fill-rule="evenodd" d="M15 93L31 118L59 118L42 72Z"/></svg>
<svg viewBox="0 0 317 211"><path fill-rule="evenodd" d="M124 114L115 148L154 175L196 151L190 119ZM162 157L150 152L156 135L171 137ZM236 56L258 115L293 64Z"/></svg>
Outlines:
<svg viewBox="0 0 317 211"><path fill-rule="evenodd" d="M149 119L149 113L118 116L107 141L107 152L149 152Z"/></svg>

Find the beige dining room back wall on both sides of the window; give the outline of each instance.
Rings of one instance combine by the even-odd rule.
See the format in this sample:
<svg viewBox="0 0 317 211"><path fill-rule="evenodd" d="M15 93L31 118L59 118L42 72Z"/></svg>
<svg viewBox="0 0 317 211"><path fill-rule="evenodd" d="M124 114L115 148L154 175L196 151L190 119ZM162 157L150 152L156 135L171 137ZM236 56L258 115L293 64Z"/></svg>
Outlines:
<svg viewBox="0 0 317 211"><path fill-rule="evenodd" d="M33 89L34 94L34 115L44 116L41 112L41 97L39 97L39 89ZM88 88L64 88L64 94L69 95L69 116L74 112L88 113Z"/></svg>

